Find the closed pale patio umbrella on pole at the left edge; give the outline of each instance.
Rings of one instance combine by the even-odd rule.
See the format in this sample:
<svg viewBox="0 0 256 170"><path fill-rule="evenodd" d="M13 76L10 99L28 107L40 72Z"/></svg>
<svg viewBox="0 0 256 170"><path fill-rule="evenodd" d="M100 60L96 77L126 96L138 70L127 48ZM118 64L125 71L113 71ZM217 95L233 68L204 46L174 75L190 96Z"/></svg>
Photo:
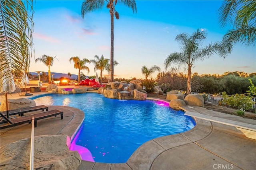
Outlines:
<svg viewBox="0 0 256 170"><path fill-rule="evenodd" d="M4 68L4 69L2 69ZM5 101L6 101L6 115L7 118L9 118L9 109L8 109L8 98L7 98L7 93L8 92L14 92L16 90L15 88L15 83L14 83L14 78L12 76L12 68L10 66L10 63L4 63L1 61L1 87L0 91L4 92L5 96Z"/></svg>

